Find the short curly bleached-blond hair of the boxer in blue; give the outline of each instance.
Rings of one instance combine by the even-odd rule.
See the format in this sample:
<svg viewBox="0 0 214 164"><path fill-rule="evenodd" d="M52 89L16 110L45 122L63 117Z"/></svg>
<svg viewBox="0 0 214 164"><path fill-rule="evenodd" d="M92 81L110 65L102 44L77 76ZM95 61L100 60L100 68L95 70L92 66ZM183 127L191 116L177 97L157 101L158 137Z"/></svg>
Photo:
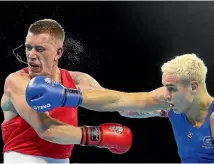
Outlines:
<svg viewBox="0 0 214 164"><path fill-rule="evenodd" d="M178 79L206 81L207 67L195 54L184 54L164 63L161 67L163 74L175 75Z"/></svg>

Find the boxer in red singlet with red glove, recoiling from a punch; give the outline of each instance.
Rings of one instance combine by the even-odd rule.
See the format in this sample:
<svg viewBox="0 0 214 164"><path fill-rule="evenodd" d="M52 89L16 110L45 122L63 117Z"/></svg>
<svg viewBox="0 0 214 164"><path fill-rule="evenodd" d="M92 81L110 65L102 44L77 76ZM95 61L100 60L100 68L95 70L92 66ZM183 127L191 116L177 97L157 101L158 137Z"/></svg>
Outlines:
<svg viewBox="0 0 214 164"><path fill-rule="evenodd" d="M55 20L39 20L28 29L25 41L28 67L6 78L1 99L4 163L69 163L74 144L108 148L116 154L131 147L128 127L117 123L78 127L77 107L58 107L39 113L26 103L26 86L38 75L81 91L103 89L85 73L58 67L64 38L64 30Z"/></svg>

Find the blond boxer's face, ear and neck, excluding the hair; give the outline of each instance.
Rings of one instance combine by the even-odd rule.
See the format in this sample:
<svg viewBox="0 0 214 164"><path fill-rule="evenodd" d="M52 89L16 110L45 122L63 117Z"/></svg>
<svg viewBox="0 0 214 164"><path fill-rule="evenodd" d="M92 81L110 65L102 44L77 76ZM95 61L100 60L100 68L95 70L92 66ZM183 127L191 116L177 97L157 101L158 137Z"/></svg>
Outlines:
<svg viewBox="0 0 214 164"><path fill-rule="evenodd" d="M205 121L213 101L213 97L203 87L205 84L202 85L197 81L187 82L179 80L174 75L165 74L162 76L162 83L167 88L165 97L167 102L174 105L174 112L185 113L193 126L200 127ZM212 117L211 119L213 119Z"/></svg>

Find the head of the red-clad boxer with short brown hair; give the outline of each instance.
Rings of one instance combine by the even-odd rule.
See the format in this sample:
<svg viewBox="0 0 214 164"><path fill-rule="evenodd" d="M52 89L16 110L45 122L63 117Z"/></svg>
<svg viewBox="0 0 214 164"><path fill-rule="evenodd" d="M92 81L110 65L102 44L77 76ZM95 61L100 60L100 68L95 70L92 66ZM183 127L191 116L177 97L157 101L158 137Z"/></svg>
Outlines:
<svg viewBox="0 0 214 164"><path fill-rule="evenodd" d="M25 47L31 76L52 73L62 56L64 39L65 32L55 20L43 19L30 25Z"/></svg>

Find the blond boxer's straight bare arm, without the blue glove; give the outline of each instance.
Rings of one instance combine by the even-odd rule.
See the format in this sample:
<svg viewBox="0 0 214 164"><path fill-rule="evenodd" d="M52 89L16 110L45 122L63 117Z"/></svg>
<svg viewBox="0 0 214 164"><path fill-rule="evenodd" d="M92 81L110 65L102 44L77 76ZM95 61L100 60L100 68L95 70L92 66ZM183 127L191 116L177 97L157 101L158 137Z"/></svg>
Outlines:
<svg viewBox="0 0 214 164"><path fill-rule="evenodd" d="M85 90L81 106L96 111L132 110L151 112L164 110L168 104L164 99L163 87L151 92L125 93L113 90Z"/></svg>

